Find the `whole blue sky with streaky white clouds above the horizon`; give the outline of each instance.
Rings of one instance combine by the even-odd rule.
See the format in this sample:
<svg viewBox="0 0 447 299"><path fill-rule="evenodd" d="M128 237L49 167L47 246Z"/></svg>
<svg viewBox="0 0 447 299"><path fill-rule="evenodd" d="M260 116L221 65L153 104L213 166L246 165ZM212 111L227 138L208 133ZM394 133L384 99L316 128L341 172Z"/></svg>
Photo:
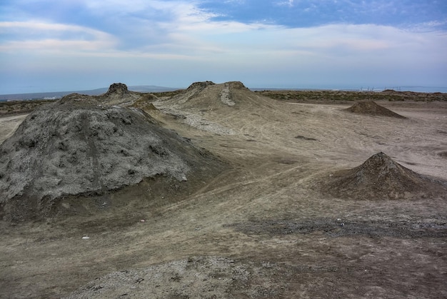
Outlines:
<svg viewBox="0 0 447 299"><path fill-rule="evenodd" d="M446 0L1 0L0 94L447 88Z"/></svg>

